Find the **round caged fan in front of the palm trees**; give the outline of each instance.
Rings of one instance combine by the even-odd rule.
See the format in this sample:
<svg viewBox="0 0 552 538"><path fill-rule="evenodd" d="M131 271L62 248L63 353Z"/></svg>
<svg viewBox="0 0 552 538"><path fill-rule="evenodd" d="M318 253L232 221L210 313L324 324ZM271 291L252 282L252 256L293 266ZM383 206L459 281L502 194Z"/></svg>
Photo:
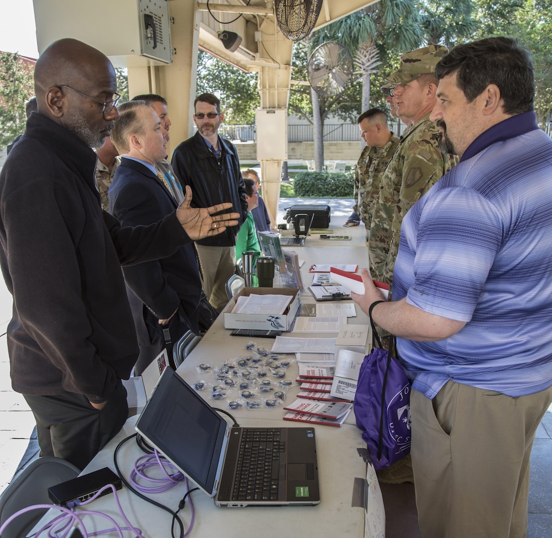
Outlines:
<svg viewBox="0 0 552 538"><path fill-rule="evenodd" d="M324 97L341 93L353 72L351 52L337 41L327 41L317 46L307 65L310 85Z"/></svg>

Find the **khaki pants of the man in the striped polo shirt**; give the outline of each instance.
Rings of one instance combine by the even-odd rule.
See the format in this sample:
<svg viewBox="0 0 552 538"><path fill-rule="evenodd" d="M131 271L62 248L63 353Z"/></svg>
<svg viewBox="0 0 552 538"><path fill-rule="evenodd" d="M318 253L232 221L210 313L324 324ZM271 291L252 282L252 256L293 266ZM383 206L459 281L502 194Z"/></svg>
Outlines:
<svg viewBox="0 0 552 538"><path fill-rule="evenodd" d="M411 392L412 468L423 538L523 538L529 459L552 387L519 398L448 381Z"/></svg>

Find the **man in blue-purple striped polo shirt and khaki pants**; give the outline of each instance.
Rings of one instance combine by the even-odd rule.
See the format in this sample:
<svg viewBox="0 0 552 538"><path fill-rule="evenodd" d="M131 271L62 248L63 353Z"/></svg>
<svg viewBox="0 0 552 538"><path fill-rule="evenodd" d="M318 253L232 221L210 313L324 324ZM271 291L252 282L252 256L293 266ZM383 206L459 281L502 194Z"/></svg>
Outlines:
<svg viewBox="0 0 552 538"><path fill-rule="evenodd" d="M517 39L458 45L435 74L431 118L462 157L402 221L392 302L365 270L353 299L397 335L412 380L422 536L524 538L552 402L552 141Z"/></svg>

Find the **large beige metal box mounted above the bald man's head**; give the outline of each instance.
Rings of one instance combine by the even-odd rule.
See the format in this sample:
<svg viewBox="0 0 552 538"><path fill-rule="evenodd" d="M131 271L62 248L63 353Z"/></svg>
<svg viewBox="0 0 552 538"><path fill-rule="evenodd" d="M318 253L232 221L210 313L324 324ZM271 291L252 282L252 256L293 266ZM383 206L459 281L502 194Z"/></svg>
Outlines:
<svg viewBox="0 0 552 538"><path fill-rule="evenodd" d="M168 0L33 0L36 42L74 38L102 51L115 67L172 62Z"/></svg>

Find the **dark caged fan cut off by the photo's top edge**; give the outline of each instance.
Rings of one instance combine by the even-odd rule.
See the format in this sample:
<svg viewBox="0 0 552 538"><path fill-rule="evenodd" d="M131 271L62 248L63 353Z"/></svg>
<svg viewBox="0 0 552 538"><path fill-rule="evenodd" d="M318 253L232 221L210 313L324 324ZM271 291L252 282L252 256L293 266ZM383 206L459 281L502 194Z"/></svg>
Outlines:
<svg viewBox="0 0 552 538"><path fill-rule="evenodd" d="M320 15L323 0L276 0L276 19L282 34L291 41L306 38Z"/></svg>

